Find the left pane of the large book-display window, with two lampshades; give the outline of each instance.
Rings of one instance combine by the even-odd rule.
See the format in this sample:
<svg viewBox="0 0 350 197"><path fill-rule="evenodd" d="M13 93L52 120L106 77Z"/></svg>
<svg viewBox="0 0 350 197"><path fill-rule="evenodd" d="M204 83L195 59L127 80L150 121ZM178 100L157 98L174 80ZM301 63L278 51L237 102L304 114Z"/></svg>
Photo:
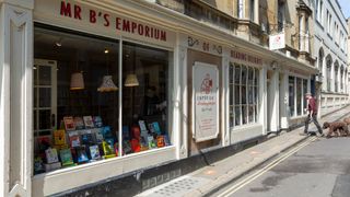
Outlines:
<svg viewBox="0 0 350 197"><path fill-rule="evenodd" d="M118 40L35 28L34 174L120 155L118 49Z"/></svg>

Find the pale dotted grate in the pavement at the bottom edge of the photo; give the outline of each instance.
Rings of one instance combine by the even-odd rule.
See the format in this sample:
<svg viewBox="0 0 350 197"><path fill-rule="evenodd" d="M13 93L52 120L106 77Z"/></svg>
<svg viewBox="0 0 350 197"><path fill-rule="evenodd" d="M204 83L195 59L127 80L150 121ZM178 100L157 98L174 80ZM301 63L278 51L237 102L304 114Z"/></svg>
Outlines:
<svg viewBox="0 0 350 197"><path fill-rule="evenodd" d="M158 187L145 190L137 197L179 197L208 183L208 178L182 176Z"/></svg>

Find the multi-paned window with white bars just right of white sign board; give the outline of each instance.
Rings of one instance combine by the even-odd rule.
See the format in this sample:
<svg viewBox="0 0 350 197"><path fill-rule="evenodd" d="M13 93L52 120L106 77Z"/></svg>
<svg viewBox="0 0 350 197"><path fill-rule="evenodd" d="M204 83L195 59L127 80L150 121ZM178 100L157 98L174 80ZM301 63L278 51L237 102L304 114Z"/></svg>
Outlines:
<svg viewBox="0 0 350 197"><path fill-rule="evenodd" d="M257 123L258 69L230 66L230 127Z"/></svg>

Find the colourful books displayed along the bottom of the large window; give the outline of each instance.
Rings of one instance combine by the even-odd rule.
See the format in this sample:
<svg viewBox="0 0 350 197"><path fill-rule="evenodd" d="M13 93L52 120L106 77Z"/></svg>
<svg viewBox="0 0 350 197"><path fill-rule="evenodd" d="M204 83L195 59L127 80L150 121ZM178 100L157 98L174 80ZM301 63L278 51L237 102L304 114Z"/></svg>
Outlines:
<svg viewBox="0 0 350 197"><path fill-rule="evenodd" d="M117 131L103 125L101 116L65 116L61 123L51 137L36 138L34 174L171 146L158 121L122 126L121 151Z"/></svg>

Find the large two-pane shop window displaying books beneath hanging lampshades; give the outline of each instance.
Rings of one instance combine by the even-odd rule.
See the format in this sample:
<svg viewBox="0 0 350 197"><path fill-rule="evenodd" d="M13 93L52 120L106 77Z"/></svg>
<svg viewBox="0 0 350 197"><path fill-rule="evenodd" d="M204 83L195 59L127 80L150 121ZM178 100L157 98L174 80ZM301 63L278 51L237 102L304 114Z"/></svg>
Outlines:
<svg viewBox="0 0 350 197"><path fill-rule="evenodd" d="M122 57L119 40L35 27L34 174L171 144L170 53L121 47Z"/></svg>

